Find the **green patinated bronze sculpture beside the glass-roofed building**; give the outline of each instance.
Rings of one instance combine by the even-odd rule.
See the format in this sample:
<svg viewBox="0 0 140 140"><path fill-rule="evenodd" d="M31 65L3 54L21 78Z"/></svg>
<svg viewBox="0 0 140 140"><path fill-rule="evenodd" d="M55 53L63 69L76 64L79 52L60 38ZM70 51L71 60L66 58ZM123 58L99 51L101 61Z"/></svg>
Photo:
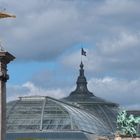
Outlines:
<svg viewBox="0 0 140 140"><path fill-rule="evenodd" d="M125 110L121 111L117 116L117 127L119 133L125 136L136 136L136 127L140 124L140 117L128 115Z"/></svg>

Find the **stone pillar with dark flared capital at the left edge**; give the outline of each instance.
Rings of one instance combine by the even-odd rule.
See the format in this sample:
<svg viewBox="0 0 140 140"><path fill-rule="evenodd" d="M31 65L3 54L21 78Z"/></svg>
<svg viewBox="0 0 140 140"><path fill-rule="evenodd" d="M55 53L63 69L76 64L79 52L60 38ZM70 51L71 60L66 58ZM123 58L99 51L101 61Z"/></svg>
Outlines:
<svg viewBox="0 0 140 140"><path fill-rule="evenodd" d="M6 138L6 81L9 79L7 74L7 64L15 59L8 52L0 51L0 140Z"/></svg>

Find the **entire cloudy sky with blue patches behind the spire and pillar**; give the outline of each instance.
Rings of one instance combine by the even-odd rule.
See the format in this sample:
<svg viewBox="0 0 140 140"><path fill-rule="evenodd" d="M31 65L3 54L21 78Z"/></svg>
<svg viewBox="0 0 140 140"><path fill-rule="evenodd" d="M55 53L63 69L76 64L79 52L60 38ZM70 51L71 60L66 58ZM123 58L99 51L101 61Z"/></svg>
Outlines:
<svg viewBox="0 0 140 140"><path fill-rule="evenodd" d="M0 21L8 64L7 101L68 96L82 57L94 95L140 109L139 0L0 0L16 19Z"/></svg>

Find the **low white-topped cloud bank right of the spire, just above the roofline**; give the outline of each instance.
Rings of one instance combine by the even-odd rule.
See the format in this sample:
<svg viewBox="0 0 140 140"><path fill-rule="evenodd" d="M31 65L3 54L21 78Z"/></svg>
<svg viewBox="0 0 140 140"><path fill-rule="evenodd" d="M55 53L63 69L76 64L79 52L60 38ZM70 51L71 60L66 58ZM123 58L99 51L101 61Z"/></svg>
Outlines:
<svg viewBox="0 0 140 140"><path fill-rule="evenodd" d="M140 80L125 80L112 77L90 79L88 87L96 96L119 103L127 109L140 109Z"/></svg>

